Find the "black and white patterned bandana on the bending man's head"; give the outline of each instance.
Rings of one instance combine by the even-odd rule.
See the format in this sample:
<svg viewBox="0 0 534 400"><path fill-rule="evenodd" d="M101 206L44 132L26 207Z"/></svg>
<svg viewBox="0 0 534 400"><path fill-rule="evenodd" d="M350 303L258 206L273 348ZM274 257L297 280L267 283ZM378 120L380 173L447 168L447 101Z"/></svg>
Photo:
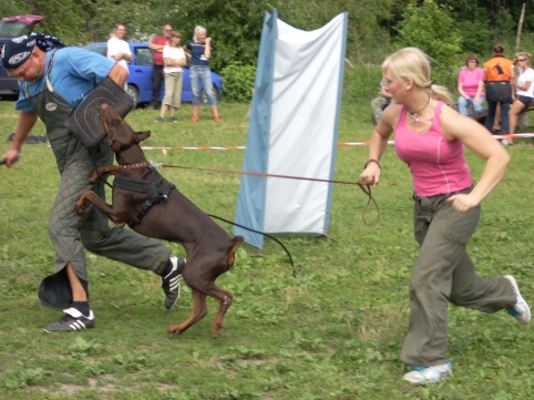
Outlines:
<svg viewBox="0 0 534 400"><path fill-rule="evenodd" d="M32 32L29 35L13 38L7 42L2 49L3 68L10 71L22 65L30 58L35 45L42 51L65 47L58 38L40 32Z"/></svg>

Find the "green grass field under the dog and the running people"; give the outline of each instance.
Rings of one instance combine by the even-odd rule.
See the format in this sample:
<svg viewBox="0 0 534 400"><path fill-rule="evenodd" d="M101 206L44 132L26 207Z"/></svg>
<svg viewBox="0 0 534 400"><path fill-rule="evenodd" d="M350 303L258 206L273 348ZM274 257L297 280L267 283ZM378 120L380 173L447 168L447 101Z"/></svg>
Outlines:
<svg viewBox="0 0 534 400"><path fill-rule="evenodd" d="M350 98L350 96L349 96ZM0 101L2 136L17 124L13 102ZM155 111L135 110L127 120L152 130L144 145L245 145L248 104L219 105L223 123L202 107L198 123L156 124ZM363 141L372 131L367 98L345 100L339 141ZM43 134L40 123L33 134ZM509 147L512 163L502 184L484 201L469 250L485 277L513 274L534 301L531 245L533 147ZM148 151L168 164L240 170L244 151ZM356 181L367 147L340 147L336 180ZM475 177L483 162L468 152ZM484 315L458 307L449 312L449 357L454 375L427 388L401 381L399 361L408 322L408 286L418 253L412 235L411 177L388 148L383 178L373 189L380 223L362 222L366 196L336 185L329 239L278 235L299 274L291 277L283 249L266 239L263 258L243 245L218 283L234 294L223 336L210 337L216 304L183 336L165 328L191 312L189 290L175 308L163 308L157 276L88 255L91 306L96 328L51 335L42 327L61 312L37 299L53 268L47 230L58 187L54 157L44 144L25 145L12 168L0 167L0 398L2 399L448 399L525 400L532 397L532 328L506 312ZM209 214L234 219L237 175L165 168L161 172ZM367 218L376 212L370 208ZM232 228L220 223L228 232ZM183 249L175 244L175 254Z"/></svg>

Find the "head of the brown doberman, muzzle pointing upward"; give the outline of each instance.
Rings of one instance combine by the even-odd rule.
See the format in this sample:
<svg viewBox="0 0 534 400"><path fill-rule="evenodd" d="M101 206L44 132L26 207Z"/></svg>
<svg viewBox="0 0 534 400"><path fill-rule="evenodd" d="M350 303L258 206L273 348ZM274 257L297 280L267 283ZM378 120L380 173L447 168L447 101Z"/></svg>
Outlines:
<svg viewBox="0 0 534 400"><path fill-rule="evenodd" d="M114 153L138 145L151 135L151 131L134 132L110 104L100 106L100 117L107 133L107 145Z"/></svg>

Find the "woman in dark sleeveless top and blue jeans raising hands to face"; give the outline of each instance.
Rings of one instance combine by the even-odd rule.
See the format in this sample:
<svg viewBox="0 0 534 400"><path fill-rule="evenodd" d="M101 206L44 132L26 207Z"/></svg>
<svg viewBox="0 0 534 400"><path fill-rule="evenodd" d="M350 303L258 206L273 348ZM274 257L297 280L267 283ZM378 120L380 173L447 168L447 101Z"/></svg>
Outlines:
<svg viewBox="0 0 534 400"><path fill-rule="evenodd" d="M186 44L191 53L189 80L193 92L193 116L191 122L198 121L198 109L201 104L201 83L207 96L207 103L212 109L213 120L220 122L217 111L217 101L213 91L212 71L209 70L209 58L212 57L212 38L207 38L206 28L195 27L193 41Z"/></svg>

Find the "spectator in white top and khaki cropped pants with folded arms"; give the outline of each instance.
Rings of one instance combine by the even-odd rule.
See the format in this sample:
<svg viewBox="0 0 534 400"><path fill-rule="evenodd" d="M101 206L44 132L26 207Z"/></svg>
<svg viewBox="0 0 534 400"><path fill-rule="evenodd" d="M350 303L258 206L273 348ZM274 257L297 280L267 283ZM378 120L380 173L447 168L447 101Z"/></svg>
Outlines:
<svg viewBox="0 0 534 400"><path fill-rule="evenodd" d="M165 66L163 73L165 75L165 98L162 102L160 117L156 122L165 121L167 109L171 111L170 122L176 122L174 116L176 110L182 103L182 82L184 80L182 66L187 64L184 49L179 47L182 34L178 31L171 32L168 44L163 48L163 61Z"/></svg>

